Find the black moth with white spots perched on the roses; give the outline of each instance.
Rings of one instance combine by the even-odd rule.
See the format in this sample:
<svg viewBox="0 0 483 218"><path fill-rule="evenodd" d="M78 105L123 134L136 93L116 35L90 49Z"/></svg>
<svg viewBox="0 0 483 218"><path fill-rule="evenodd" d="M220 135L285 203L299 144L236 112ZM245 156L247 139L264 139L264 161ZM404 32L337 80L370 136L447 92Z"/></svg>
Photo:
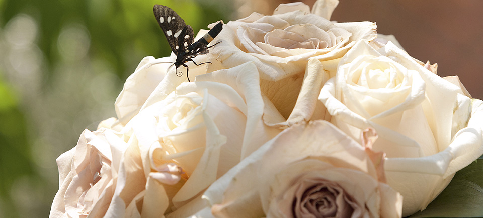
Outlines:
<svg viewBox="0 0 483 218"><path fill-rule="evenodd" d="M185 63L191 61L197 66L211 63L204 62L197 64L192 58L200 54L207 54L209 48L220 43L218 42L212 46L208 46L213 38L220 33L223 28L223 23L221 21L218 22L207 34L193 43L193 28L190 25L186 25L185 21L173 11L173 9L162 5L155 5L154 16L165 33L171 50L173 50L173 53L176 55L176 62L173 64L177 69L180 66L186 67L186 77L188 78L188 81L190 81L190 78L188 77L188 65ZM178 73L176 74L178 75ZM181 72L178 76L181 76Z"/></svg>

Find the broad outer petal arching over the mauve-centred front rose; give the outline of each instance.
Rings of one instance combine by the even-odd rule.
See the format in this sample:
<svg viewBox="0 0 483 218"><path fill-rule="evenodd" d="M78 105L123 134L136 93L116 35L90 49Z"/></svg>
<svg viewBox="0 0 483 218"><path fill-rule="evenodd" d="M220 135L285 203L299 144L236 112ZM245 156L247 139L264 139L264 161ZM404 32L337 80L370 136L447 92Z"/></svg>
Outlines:
<svg viewBox="0 0 483 218"><path fill-rule="evenodd" d="M321 141L324 143L320 143ZM293 146L294 144L299 146ZM348 158L348 156L354 158ZM272 203L276 202L274 194L283 192L283 189L277 188L280 186L276 184L290 183L292 179L297 178L300 170L310 171L310 167L315 169L320 166L308 164L306 167L296 167L297 173L293 170L288 170L289 173L281 173L281 169L283 171L284 168L310 162L305 160L323 162L329 169L364 173L377 186L376 170L364 148L331 124L315 121L308 125L294 125L267 142L213 183L204 193L203 198L209 202L209 205L213 205L212 212L217 217L236 217L239 214L244 214L246 217L262 217L264 214L270 216ZM351 183L353 180L343 179L342 181ZM349 186L344 185L344 187ZM345 190L351 192L350 190L353 189ZM393 205L386 208L394 210L386 214L391 214L388 217L400 216L401 199L396 192L393 192L391 197L380 199L378 194L372 193L373 190L368 188L362 191L363 193L358 192L361 195L353 196L359 202L365 202L368 199L363 196L371 196L369 199L375 197L374 202L382 202L390 198L390 202L386 201L386 203ZM370 207L370 211L379 214L378 203L369 203L367 206ZM363 210L368 212L365 208Z"/></svg>

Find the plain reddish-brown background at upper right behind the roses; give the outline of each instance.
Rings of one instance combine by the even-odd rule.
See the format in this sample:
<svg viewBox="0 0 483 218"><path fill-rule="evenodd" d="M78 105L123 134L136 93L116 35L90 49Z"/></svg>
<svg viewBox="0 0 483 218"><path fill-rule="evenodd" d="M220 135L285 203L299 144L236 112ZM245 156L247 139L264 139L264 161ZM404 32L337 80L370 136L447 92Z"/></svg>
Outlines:
<svg viewBox="0 0 483 218"><path fill-rule="evenodd" d="M378 33L394 35L411 56L438 63L439 76L458 75L482 99L482 11L481 0L340 0L331 20L376 22Z"/></svg>

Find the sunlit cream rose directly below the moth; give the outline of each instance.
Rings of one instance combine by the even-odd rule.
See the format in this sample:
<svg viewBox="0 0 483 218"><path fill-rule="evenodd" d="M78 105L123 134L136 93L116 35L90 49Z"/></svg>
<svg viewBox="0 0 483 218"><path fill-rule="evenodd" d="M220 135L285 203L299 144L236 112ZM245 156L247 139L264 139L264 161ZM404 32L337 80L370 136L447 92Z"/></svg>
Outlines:
<svg viewBox="0 0 483 218"><path fill-rule="evenodd" d="M202 190L281 131L261 120L258 76L255 65L247 63L200 75L168 95L169 87L160 87L167 84L165 77L147 97L122 132L138 145L144 176L154 184L158 179L162 183L157 190L143 191L137 197L159 194L167 198L150 200L157 208L143 205L142 214L189 213L190 209L178 208L191 207ZM184 173L180 182L167 184L167 174L158 174L168 163Z"/></svg>

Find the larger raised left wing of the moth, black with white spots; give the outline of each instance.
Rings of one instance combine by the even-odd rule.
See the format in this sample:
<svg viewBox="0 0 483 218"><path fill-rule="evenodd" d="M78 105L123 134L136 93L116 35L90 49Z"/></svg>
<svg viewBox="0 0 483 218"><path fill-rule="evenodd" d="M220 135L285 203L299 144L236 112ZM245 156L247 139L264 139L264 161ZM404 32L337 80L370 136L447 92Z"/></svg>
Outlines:
<svg viewBox="0 0 483 218"><path fill-rule="evenodd" d="M184 45L185 36L188 35L188 39L191 39L191 42L193 41L193 28L186 25L185 21L173 9L167 6L154 5L153 11L159 27L165 33L171 50L176 55L180 54L184 49L181 45ZM191 44L189 40L186 42L189 45Z"/></svg>

